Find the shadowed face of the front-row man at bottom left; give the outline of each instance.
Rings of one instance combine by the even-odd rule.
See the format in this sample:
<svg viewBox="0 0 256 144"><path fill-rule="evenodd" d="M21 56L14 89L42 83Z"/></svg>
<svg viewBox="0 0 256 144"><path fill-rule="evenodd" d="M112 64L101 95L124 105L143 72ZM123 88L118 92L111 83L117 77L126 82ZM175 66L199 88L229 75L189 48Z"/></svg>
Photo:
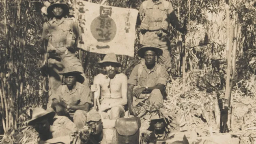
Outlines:
<svg viewBox="0 0 256 144"><path fill-rule="evenodd" d="M36 122L34 127L39 134L46 134L47 132L50 131L50 122L47 118L42 119Z"/></svg>

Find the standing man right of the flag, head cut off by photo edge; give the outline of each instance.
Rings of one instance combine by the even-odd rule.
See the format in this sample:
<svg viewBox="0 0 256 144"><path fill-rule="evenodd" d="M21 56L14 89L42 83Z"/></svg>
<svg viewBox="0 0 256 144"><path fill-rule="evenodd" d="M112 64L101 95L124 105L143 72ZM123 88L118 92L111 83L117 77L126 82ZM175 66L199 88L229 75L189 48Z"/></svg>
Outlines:
<svg viewBox="0 0 256 144"><path fill-rule="evenodd" d="M156 45L163 50L159 57L159 63L164 65L168 72L171 71L171 44L169 25L186 33L175 15L171 2L166 0L146 0L142 2L140 9L140 43L145 45Z"/></svg>

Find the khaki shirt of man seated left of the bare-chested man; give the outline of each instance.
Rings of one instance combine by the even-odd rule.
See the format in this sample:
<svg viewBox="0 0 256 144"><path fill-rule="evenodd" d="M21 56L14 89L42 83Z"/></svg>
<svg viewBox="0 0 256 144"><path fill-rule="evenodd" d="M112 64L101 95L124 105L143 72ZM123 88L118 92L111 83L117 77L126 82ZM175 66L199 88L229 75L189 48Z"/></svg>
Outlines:
<svg viewBox="0 0 256 144"><path fill-rule="evenodd" d="M84 105L86 102L92 103L90 96L90 88L76 82L76 86L71 91L68 90L67 85L59 86L52 99L57 99L58 101L63 99L68 105Z"/></svg>

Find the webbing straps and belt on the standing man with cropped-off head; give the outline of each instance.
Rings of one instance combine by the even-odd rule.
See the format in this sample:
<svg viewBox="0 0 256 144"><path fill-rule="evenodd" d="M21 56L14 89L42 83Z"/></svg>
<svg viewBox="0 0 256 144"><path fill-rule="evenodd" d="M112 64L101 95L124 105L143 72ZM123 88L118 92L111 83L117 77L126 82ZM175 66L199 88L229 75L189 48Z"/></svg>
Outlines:
<svg viewBox="0 0 256 144"><path fill-rule="evenodd" d="M141 29L147 29L150 31L156 31L156 30L160 30L160 29L168 30L168 25L163 24L163 22L167 18L169 2L166 0L163 0L163 4L164 4L164 8L165 8L165 16L163 17L162 22L147 22L147 24L145 24L144 21L147 17L147 16L145 16L145 11L146 11L148 2L149 2L149 0L144 1L142 3L142 8L143 8L144 12L142 14L143 20L141 22Z"/></svg>

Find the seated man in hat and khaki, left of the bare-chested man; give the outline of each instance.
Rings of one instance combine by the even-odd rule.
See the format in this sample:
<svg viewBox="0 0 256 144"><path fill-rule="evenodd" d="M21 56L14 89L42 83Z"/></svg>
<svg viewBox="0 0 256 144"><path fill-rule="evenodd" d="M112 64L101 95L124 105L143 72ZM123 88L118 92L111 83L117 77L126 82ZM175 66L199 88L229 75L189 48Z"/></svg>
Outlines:
<svg viewBox="0 0 256 144"><path fill-rule="evenodd" d="M65 85L59 86L53 95L51 107L59 116L73 120L77 128L83 128L92 103L90 88L77 82L77 79L83 77L75 67L67 67L60 74L64 76Z"/></svg>

